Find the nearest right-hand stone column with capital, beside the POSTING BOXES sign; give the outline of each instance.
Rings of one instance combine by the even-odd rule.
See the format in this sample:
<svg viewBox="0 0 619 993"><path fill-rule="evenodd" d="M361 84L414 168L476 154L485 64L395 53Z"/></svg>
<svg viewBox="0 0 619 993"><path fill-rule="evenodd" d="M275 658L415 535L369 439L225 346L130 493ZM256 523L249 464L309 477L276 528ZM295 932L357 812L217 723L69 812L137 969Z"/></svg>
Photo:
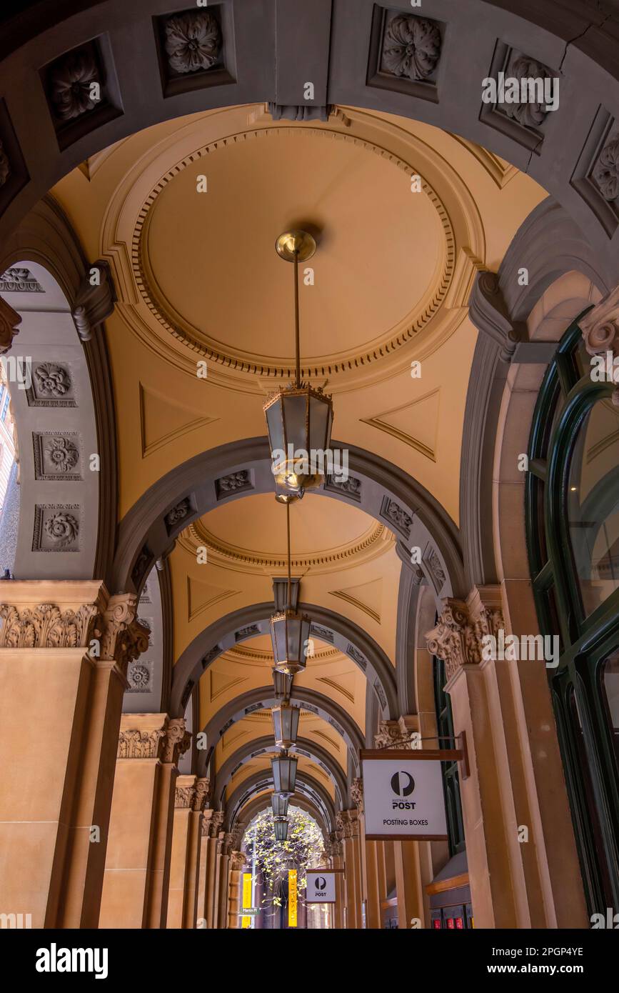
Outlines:
<svg viewBox="0 0 619 993"><path fill-rule="evenodd" d="M483 652L483 638L504 629L500 587L480 587L466 602L444 601L428 635L445 662L454 732L466 735L469 776L460 778L460 793L477 927L532 926L523 859L535 859L535 847L519 842L516 813L528 739L514 712L513 663Z"/></svg>

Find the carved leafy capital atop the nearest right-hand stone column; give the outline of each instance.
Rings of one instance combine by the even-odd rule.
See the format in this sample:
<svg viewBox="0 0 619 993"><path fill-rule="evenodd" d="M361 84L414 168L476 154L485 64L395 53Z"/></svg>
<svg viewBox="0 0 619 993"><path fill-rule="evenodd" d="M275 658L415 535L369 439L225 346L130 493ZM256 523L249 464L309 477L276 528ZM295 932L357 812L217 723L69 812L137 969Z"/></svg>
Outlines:
<svg viewBox="0 0 619 993"><path fill-rule="evenodd" d="M428 648L442 658L447 679L461 665L478 665L482 659L482 638L498 637L505 629L501 591L499 587L475 587L466 601L448 598L438 624L428 632Z"/></svg>

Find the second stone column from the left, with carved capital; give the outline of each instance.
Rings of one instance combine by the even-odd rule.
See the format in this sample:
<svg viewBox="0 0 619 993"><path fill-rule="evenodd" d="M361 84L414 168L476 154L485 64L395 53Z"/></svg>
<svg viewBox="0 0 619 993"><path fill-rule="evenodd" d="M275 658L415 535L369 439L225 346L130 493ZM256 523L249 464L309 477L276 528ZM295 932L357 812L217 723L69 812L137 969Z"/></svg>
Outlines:
<svg viewBox="0 0 619 993"><path fill-rule="evenodd" d="M166 926L176 761L189 743L183 719L170 723L167 714L122 716L100 927ZM174 776L163 761L171 749Z"/></svg>

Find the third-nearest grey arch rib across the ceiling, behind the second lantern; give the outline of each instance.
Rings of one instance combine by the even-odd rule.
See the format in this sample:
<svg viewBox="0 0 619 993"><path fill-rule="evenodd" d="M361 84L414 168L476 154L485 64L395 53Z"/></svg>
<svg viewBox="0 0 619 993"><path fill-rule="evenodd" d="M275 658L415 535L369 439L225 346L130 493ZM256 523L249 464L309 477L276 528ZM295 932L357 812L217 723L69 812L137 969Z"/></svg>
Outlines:
<svg viewBox="0 0 619 993"><path fill-rule="evenodd" d="M365 673L369 688L376 693L380 701L384 717L397 718L398 690L395 670L374 638L370 638L352 621L326 607L301 603L300 609L309 614L313 625L317 624L330 632L331 643L339 647L344 654L349 655L355 665ZM183 714L191 689L215 658L241 639L267 635L272 614L273 604L269 603L243 607L219 618L193 638L175 665L172 710L176 716ZM239 634L250 626L252 632L239 637ZM316 634L316 637L320 636Z"/></svg>

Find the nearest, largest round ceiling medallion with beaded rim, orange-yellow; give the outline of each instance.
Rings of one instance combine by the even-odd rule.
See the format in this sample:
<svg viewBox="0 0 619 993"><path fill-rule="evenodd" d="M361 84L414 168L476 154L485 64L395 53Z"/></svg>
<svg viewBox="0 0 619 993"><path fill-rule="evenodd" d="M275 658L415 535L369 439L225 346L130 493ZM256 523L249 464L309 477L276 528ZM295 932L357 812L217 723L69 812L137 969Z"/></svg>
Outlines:
<svg viewBox="0 0 619 993"><path fill-rule="evenodd" d="M380 145L326 127L212 142L142 206L132 245L139 292L193 352L228 370L292 375L293 278L273 245L287 229L317 230L318 249L300 268L302 374L367 366L432 320L453 272L449 217L413 175Z"/></svg>

